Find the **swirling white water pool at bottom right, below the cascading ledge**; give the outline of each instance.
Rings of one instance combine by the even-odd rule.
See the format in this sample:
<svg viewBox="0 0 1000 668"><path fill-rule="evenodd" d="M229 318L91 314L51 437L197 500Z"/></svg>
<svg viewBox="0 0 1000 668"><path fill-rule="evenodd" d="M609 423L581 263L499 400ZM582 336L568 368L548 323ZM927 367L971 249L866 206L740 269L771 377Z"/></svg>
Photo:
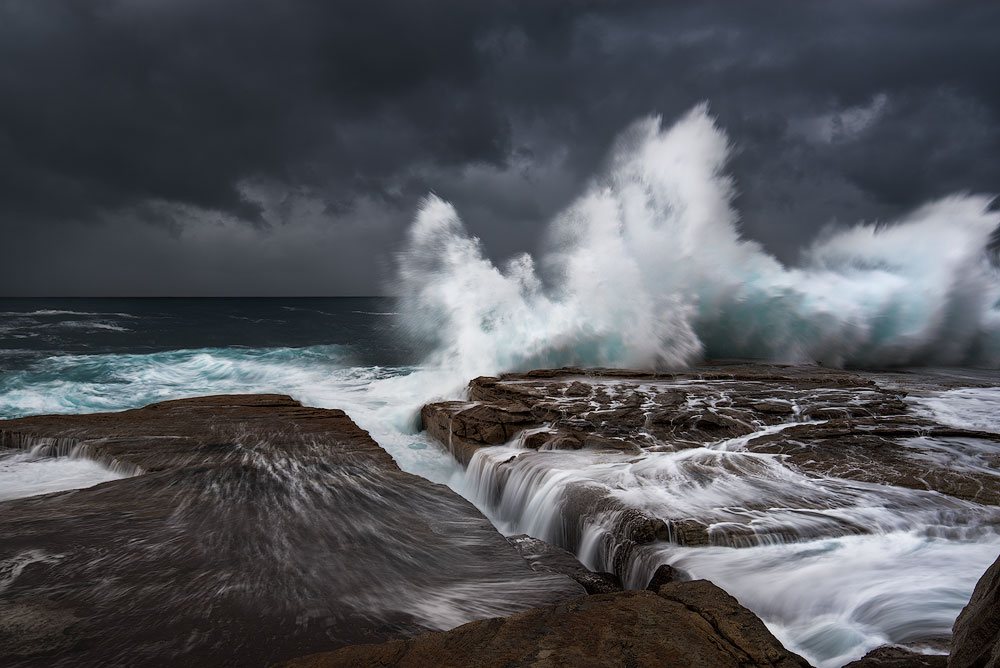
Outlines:
<svg viewBox="0 0 1000 668"><path fill-rule="evenodd" d="M1000 552L923 530L659 556L716 583L760 615L792 651L834 668L884 644L927 646L950 635L972 588Z"/></svg>

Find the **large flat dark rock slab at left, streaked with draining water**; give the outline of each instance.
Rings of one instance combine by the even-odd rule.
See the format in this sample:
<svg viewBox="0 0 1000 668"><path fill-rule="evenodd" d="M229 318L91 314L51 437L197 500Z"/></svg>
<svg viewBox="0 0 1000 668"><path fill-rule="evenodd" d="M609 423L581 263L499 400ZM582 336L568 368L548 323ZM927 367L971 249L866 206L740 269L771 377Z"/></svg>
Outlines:
<svg viewBox="0 0 1000 668"><path fill-rule="evenodd" d="M267 665L583 594L342 411L277 395L0 421L130 477L0 503L0 664Z"/></svg>

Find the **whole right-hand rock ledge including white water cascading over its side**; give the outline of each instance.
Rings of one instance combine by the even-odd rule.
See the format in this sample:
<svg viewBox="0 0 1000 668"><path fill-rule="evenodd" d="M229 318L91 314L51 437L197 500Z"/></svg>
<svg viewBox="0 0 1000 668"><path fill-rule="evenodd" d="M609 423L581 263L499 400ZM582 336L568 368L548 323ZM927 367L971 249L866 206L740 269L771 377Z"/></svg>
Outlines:
<svg viewBox="0 0 1000 668"><path fill-rule="evenodd" d="M1000 434L935 422L927 404L907 397L937 400L957 382L776 364L547 369L476 378L465 401L428 404L421 415L466 466L477 505L638 589L675 578L668 564L704 577L703 547L715 550L706 550L711 573L717 548L859 544L905 531L992 540ZM734 561L754 582L750 556ZM756 610L767 608L765 588L744 592ZM884 629L890 640L915 641L889 622ZM947 643L947 629L938 624L927 638ZM844 651L803 646L817 660ZM941 663L902 648L864 660Z"/></svg>

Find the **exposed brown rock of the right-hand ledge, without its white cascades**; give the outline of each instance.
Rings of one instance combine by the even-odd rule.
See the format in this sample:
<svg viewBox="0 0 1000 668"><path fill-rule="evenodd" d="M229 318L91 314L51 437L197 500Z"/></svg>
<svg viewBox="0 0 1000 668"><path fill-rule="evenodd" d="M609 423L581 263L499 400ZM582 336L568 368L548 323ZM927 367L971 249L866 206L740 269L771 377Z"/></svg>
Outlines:
<svg viewBox="0 0 1000 668"><path fill-rule="evenodd" d="M497 501L510 471L541 467L539 462L550 452L576 451L609 462L627 462L635 455L638 462L638 457L688 449L698 452L680 466L690 467L685 474L695 483L767 475L768 462L762 459L720 455L710 464L693 463L710 452L739 451L774 455L775 461L809 476L1000 505L1000 435L938 424L911 409L899 383L893 387L876 380L873 374L766 364L657 374L542 370L476 378L469 385L468 401L429 404L422 418L428 432L466 465L483 448L513 446L504 451L507 459L489 481L497 487ZM956 467L943 456L946 451L967 452L974 465ZM584 517L620 511L617 533L626 543L625 551L629 543L665 536L688 546L756 545L803 537L781 520L759 516L775 505L773 499L757 507L746 503L746 512L728 516L664 517L623 502L613 485L598 482L568 482L565 513ZM813 513L823 535L872 530L865 522L829 513L826 501L795 499L794 505L801 506L797 519ZM573 528L566 531L569 534L557 542L577 544Z"/></svg>

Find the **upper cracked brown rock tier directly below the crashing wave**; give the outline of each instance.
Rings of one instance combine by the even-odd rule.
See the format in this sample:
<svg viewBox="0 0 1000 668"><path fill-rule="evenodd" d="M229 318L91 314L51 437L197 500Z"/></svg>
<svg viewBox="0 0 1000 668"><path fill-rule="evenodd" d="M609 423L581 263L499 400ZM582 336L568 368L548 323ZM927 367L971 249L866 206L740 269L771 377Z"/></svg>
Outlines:
<svg viewBox="0 0 1000 668"><path fill-rule="evenodd" d="M891 385L886 383L886 385ZM468 402L424 407L425 428L465 462L522 435L533 450L698 448L755 435L753 452L815 473L1000 505L1000 484L921 459L914 439L1000 443L995 433L914 414L901 389L822 367L726 365L687 373L557 369L480 377ZM763 428L790 428L773 434ZM985 464L1000 467L1000 455Z"/></svg>

